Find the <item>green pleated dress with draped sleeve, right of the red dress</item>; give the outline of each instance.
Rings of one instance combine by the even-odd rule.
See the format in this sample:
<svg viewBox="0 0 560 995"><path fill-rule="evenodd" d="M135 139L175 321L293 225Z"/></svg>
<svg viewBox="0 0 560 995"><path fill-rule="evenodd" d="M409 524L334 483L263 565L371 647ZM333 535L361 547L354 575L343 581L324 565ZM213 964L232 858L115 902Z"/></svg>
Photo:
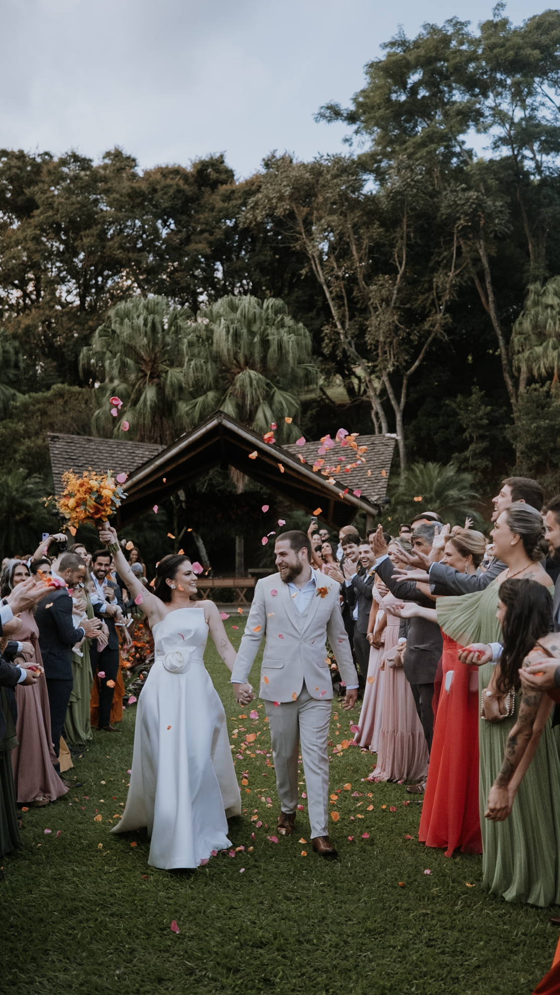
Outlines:
<svg viewBox="0 0 560 995"><path fill-rule="evenodd" d="M552 589L549 588L552 591ZM455 598L438 598L438 621L462 646L497 643L498 585ZM478 671L478 690L487 687L492 665ZM560 902L560 759L556 730L549 718L533 760L505 822L484 819L488 791L502 764L505 742L517 717L478 725L480 746L480 828L482 887L506 901L550 905Z"/></svg>

